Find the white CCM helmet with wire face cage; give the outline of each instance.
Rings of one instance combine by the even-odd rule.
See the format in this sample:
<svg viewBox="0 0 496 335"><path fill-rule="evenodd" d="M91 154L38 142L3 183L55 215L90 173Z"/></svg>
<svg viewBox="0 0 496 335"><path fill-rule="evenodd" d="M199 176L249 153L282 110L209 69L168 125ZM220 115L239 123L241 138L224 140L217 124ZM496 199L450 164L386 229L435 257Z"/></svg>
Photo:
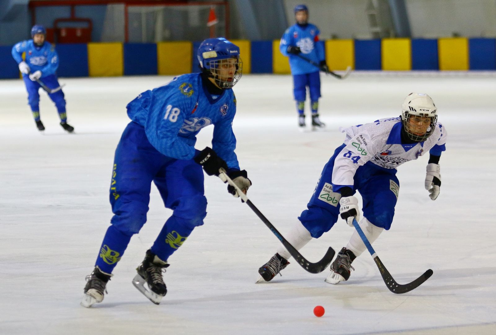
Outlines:
<svg viewBox="0 0 496 335"><path fill-rule="evenodd" d="M431 136L434 133L437 123L436 111L437 108L434 105L433 99L426 93L408 94L401 105L401 123L408 137L416 142L422 142ZM413 131L410 118L415 116L429 118L430 124L425 134L419 134Z"/></svg>

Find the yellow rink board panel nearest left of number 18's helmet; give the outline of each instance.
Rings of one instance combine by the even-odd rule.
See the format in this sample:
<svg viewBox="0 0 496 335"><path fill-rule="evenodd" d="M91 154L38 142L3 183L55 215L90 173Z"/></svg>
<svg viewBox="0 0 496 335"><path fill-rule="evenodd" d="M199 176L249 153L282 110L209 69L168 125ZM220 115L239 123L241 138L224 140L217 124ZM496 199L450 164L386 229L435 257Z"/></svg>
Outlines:
<svg viewBox="0 0 496 335"><path fill-rule="evenodd" d="M191 42L158 42L157 69L159 75L191 72L193 44Z"/></svg>

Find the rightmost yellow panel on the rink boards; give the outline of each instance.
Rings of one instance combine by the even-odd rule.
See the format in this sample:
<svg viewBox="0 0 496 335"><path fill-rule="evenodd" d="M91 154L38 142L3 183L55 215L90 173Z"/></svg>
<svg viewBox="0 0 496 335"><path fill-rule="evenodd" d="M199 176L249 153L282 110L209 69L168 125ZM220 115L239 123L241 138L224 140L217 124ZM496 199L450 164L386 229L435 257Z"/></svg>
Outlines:
<svg viewBox="0 0 496 335"><path fill-rule="evenodd" d="M437 52L440 70L468 70L467 38L439 38Z"/></svg>

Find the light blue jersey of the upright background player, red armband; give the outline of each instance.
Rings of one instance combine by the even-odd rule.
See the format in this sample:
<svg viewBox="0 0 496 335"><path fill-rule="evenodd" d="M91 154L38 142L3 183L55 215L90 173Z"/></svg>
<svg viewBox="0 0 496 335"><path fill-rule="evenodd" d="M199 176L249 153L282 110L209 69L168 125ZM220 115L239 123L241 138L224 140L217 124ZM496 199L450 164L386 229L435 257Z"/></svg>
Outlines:
<svg viewBox="0 0 496 335"><path fill-rule="evenodd" d="M294 24L286 29L284 35L282 35L279 50L284 56L289 56L289 66L292 74L306 74L319 70L318 67L311 65L298 56L288 54L287 51L290 45L300 47L303 57L319 64L320 61L325 60L324 47L322 42L318 40L319 33L318 28L309 23L304 27Z"/></svg>

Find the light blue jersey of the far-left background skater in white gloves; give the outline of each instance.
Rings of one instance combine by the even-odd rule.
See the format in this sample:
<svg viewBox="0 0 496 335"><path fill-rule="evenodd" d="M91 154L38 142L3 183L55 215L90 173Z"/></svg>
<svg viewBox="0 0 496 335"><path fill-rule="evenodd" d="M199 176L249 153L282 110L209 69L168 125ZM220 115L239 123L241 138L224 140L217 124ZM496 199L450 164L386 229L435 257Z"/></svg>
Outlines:
<svg viewBox="0 0 496 335"><path fill-rule="evenodd" d="M17 64L22 62L22 53L26 53L25 62L29 65L31 73L41 71L41 77L52 75L59 67L59 56L55 47L45 41L43 46L37 47L33 40L22 41L12 47L12 57ZM27 74L22 74L27 75Z"/></svg>

